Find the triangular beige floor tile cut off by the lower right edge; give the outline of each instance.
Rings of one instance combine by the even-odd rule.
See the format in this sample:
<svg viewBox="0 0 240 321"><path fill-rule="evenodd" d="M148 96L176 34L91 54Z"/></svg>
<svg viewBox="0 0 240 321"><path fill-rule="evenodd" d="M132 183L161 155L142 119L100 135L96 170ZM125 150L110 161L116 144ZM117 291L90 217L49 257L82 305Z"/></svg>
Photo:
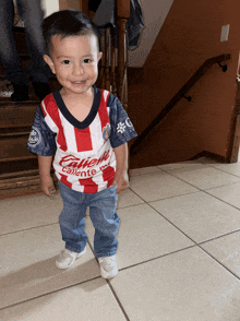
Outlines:
<svg viewBox="0 0 240 321"><path fill-rule="evenodd" d="M208 241L201 247L240 277L240 231Z"/></svg>

